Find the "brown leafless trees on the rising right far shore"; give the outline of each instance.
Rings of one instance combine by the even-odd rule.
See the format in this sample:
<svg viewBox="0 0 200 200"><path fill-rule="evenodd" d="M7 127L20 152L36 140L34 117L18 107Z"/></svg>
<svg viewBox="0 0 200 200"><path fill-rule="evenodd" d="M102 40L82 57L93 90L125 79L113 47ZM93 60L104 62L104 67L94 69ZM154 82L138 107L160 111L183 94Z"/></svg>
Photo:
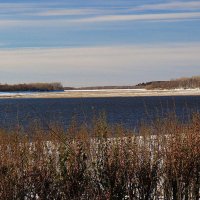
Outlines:
<svg viewBox="0 0 200 200"><path fill-rule="evenodd" d="M200 88L200 76L193 76L191 78L172 79L170 81L153 81L140 83L136 88L152 89L178 89L178 88Z"/></svg>

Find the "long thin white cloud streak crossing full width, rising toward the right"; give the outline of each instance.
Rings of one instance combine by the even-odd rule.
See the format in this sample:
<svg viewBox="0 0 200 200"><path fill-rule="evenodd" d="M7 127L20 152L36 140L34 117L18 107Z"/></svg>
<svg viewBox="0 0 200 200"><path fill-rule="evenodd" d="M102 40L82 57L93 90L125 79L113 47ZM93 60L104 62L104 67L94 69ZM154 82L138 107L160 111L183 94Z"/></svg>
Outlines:
<svg viewBox="0 0 200 200"><path fill-rule="evenodd" d="M0 29L12 26L76 26L83 23L120 22L120 21L180 21L200 20L200 12L167 13L167 14L137 14L137 15L104 15L77 19L0 19Z"/></svg>

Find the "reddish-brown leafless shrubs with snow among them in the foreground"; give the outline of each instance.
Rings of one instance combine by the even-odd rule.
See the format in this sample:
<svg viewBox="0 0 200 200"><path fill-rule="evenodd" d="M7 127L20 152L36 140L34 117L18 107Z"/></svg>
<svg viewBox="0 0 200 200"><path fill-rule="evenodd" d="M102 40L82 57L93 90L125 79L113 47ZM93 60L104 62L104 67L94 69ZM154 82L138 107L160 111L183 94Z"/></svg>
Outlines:
<svg viewBox="0 0 200 200"><path fill-rule="evenodd" d="M137 132L109 125L67 130L33 123L0 131L1 199L200 198L200 114L175 114L141 124Z"/></svg>

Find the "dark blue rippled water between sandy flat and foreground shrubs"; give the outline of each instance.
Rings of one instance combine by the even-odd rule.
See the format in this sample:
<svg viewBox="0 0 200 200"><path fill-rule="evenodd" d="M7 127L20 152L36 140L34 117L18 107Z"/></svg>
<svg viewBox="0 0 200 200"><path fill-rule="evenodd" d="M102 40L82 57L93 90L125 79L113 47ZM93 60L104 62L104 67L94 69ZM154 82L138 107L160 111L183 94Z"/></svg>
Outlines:
<svg viewBox="0 0 200 200"><path fill-rule="evenodd" d="M169 112L176 112L180 119L185 120L191 111L200 111L200 96L1 99L0 126L27 126L40 119L59 121L67 127L73 116L79 123L90 123L94 116L105 112L109 123L122 123L133 128L141 120L148 122Z"/></svg>

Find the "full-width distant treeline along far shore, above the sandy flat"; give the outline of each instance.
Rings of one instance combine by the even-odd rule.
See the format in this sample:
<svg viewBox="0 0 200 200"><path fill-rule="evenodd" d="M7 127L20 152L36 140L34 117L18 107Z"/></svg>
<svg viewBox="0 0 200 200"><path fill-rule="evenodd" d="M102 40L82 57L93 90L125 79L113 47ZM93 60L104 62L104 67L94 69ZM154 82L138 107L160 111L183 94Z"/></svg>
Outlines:
<svg viewBox="0 0 200 200"><path fill-rule="evenodd" d="M197 89L200 88L200 76L191 78L172 79L170 81L151 81L139 83L133 86L93 86L93 87L64 87L59 82L53 83L23 83L23 84L0 84L0 92L48 92L48 91L82 91L82 90L114 90L114 89L146 89L146 90L174 90L174 89Z"/></svg>

